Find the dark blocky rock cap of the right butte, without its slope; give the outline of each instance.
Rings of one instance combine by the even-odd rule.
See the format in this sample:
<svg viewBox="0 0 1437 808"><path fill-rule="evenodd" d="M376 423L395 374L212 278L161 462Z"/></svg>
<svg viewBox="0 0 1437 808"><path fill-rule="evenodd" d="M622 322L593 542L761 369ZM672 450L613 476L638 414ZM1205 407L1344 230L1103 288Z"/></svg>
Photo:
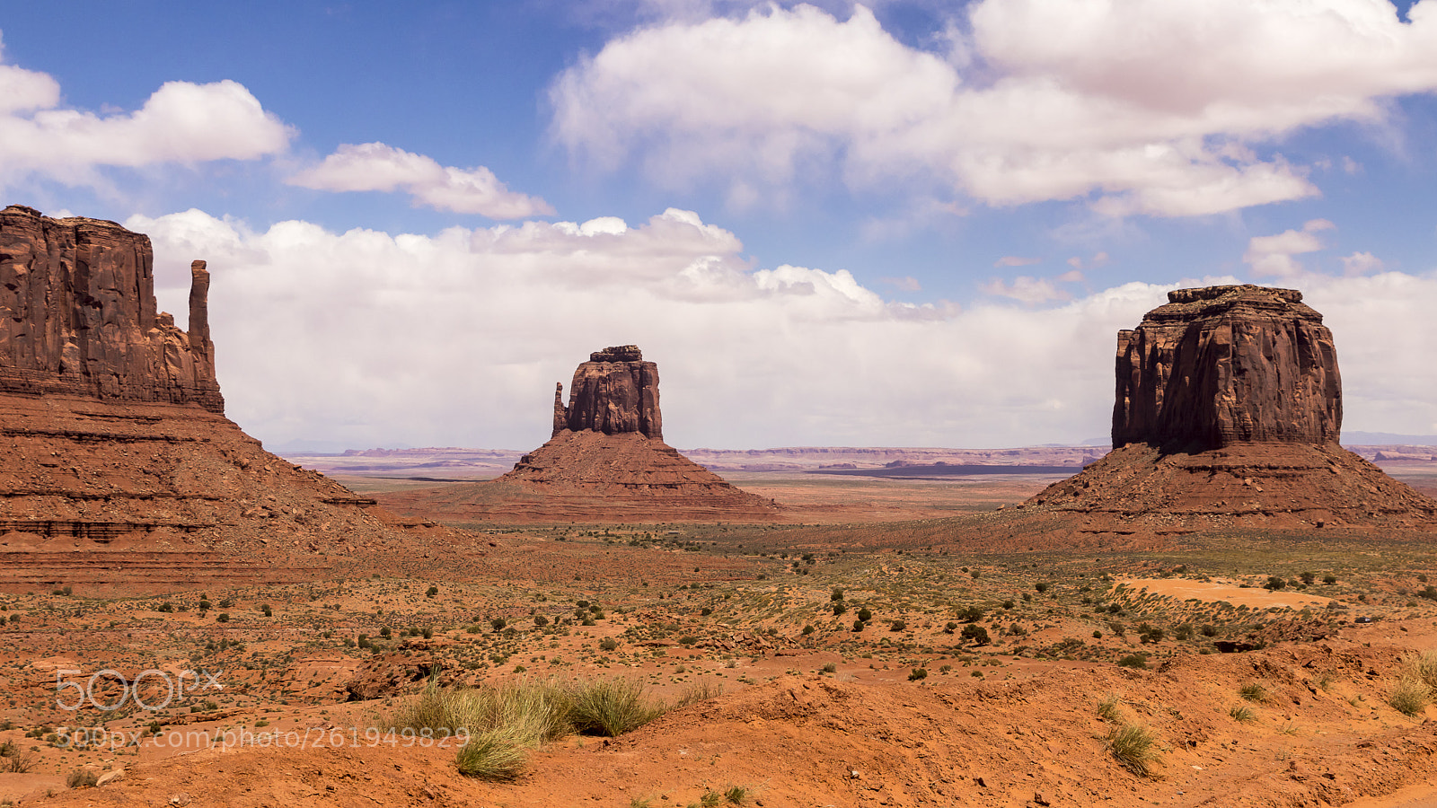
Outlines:
<svg viewBox="0 0 1437 808"><path fill-rule="evenodd" d="M1302 292L1178 289L1118 332L1114 447L1335 444L1341 428L1332 332Z"/></svg>

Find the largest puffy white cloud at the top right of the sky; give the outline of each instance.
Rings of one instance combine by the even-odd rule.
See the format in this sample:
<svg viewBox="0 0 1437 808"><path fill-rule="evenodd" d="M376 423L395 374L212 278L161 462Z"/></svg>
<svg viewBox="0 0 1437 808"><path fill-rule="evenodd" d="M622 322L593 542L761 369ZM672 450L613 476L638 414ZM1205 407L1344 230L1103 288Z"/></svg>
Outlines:
<svg viewBox="0 0 1437 808"><path fill-rule="evenodd" d="M1204 216L1318 193L1270 147L1437 91L1437 0L980 0L946 53L856 6L639 27L550 86L552 134L760 198L836 165L1004 206ZM1266 150L1262 154L1259 150ZM777 194L782 198L782 194Z"/></svg>

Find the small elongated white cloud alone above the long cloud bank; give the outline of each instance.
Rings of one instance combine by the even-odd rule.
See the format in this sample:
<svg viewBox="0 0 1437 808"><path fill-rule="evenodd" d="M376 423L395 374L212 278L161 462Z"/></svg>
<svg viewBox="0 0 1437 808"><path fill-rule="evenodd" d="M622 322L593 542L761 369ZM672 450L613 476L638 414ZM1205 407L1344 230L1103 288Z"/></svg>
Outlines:
<svg viewBox="0 0 1437 808"><path fill-rule="evenodd" d="M402 190L414 197L415 204L489 219L553 213L553 207L542 198L510 191L483 165L440 165L431 157L382 142L341 144L319 165L289 177L286 183L320 191Z"/></svg>

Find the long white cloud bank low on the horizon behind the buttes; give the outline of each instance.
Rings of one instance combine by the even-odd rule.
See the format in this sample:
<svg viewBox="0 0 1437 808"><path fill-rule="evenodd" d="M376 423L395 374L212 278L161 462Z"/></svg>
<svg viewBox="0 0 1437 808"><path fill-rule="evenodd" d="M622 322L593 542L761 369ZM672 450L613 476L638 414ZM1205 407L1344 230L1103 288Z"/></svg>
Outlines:
<svg viewBox="0 0 1437 808"><path fill-rule="evenodd" d="M1099 437L1117 331L1173 288L915 306L842 270L754 269L737 236L691 211L621 223L336 233L190 210L126 226L151 234L171 311L184 311L188 262L210 262L231 417L267 441L352 447L532 449L547 437L553 382L629 342L660 365L680 447ZM1209 282L1233 280L1184 285ZM1424 372L1437 276L1305 276L1302 288L1336 334L1349 428L1437 421L1437 378Z"/></svg>

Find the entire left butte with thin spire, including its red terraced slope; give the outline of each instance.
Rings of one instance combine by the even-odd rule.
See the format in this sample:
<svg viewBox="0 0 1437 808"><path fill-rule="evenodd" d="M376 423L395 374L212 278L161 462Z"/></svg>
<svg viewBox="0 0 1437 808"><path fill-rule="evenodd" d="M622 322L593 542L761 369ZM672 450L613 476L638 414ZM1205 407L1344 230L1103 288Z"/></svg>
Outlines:
<svg viewBox="0 0 1437 808"><path fill-rule="evenodd" d="M187 331L157 311L152 265L114 221L0 211L0 588L302 581L468 552L226 418L205 263Z"/></svg>

